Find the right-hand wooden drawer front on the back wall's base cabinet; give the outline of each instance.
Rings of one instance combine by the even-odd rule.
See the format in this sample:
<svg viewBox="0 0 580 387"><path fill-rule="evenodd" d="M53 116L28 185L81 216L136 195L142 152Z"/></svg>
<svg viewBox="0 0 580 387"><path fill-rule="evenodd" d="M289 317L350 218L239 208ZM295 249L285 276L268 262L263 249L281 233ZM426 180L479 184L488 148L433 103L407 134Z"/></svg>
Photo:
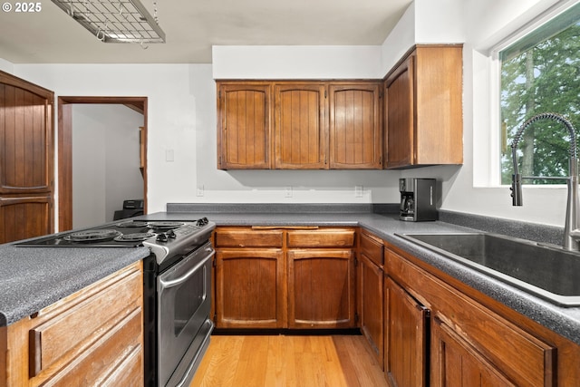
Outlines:
<svg viewBox="0 0 580 387"><path fill-rule="evenodd" d="M352 247L354 230L347 228L288 231L287 247Z"/></svg>

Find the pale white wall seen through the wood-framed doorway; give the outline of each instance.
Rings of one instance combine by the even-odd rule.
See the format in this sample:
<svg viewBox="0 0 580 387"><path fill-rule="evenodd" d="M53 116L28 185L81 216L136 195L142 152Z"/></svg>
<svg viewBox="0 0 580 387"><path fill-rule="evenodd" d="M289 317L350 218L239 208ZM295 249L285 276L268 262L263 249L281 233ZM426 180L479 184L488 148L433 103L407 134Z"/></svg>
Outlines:
<svg viewBox="0 0 580 387"><path fill-rule="evenodd" d="M125 199L143 198L143 115L121 104L73 105L73 228L113 220Z"/></svg>

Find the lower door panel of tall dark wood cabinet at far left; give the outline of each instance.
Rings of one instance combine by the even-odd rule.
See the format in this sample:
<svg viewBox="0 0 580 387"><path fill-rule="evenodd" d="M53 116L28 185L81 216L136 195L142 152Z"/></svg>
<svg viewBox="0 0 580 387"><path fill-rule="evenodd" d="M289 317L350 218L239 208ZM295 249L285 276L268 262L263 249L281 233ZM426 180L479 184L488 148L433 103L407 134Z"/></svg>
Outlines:
<svg viewBox="0 0 580 387"><path fill-rule="evenodd" d="M52 196L0 197L0 244L53 231Z"/></svg>

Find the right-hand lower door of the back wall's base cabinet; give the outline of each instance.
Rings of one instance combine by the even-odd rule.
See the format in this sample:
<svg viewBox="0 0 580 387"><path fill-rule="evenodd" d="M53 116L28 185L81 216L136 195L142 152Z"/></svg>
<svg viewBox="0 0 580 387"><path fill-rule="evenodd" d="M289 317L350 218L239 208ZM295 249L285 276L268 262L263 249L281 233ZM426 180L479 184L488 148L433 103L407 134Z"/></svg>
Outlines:
<svg viewBox="0 0 580 387"><path fill-rule="evenodd" d="M353 250L291 249L286 254L288 326L354 327Z"/></svg>

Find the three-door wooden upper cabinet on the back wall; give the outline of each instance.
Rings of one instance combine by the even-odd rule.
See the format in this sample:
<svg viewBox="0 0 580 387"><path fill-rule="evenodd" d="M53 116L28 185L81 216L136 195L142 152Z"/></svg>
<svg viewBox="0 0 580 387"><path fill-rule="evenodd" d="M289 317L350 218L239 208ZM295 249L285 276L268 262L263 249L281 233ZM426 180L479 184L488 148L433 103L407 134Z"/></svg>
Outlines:
<svg viewBox="0 0 580 387"><path fill-rule="evenodd" d="M382 168L380 82L217 84L219 169Z"/></svg>

